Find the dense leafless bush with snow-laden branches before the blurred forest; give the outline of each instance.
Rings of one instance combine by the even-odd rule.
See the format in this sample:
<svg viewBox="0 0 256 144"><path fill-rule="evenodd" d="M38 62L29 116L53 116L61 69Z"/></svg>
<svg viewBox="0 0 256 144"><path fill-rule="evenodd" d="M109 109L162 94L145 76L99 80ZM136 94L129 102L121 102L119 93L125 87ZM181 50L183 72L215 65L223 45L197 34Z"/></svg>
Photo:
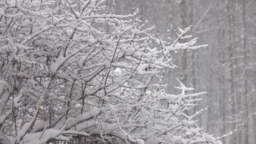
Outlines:
<svg viewBox="0 0 256 144"><path fill-rule="evenodd" d="M184 112L205 93L162 83L171 53L206 46L190 28L164 41L101 0L0 5L0 143L220 143Z"/></svg>

